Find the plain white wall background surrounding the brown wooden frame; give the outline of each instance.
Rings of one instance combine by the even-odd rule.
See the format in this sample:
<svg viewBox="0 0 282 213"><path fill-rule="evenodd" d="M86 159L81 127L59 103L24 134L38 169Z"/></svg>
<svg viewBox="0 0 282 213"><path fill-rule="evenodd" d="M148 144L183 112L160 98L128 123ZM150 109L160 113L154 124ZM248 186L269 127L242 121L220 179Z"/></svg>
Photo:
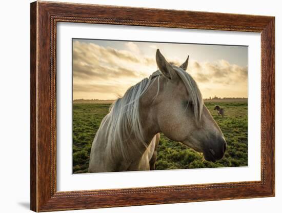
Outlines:
<svg viewBox="0 0 282 213"><path fill-rule="evenodd" d="M282 14L279 2L266 1L71 1L104 5L242 13L276 16L276 197L183 204L79 210L77 212L281 212L281 58ZM0 39L0 197L1 212L29 211L30 157L30 1L1 3ZM281 40L282 38L280 38ZM280 103L279 103L280 101ZM76 212L76 211L68 211Z"/></svg>

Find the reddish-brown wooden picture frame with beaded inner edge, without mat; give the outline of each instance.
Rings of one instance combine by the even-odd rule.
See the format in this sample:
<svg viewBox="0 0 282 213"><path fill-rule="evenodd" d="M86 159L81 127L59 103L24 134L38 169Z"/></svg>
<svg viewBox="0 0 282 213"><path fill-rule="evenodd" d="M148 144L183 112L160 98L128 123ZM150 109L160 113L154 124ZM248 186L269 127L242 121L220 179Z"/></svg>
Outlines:
<svg viewBox="0 0 282 213"><path fill-rule="evenodd" d="M261 181L56 190L58 22L261 33ZM54 2L31 3L31 210L53 211L275 195L275 17Z"/></svg>

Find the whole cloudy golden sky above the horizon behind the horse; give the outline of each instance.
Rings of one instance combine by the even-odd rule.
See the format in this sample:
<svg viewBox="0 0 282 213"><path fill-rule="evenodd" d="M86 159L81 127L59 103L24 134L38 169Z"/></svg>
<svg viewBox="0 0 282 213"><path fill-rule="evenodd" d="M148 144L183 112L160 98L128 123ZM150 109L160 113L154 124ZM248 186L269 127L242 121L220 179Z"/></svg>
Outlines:
<svg viewBox="0 0 282 213"><path fill-rule="evenodd" d="M73 99L114 100L157 70L156 50L181 65L204 98L247 98L248 47L73 38Z"/></svg>

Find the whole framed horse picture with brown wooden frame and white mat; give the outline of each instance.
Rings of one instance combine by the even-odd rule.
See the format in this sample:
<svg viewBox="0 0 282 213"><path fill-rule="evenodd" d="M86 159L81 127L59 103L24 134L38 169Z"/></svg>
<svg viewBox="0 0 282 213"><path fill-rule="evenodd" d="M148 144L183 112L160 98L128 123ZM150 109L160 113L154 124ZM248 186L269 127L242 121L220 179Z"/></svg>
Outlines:
<svg viewBox="0 0 282 213"><path fill-rule="evenodd" d="M275 196L275 17L31 3L31 210Z"/></svg>

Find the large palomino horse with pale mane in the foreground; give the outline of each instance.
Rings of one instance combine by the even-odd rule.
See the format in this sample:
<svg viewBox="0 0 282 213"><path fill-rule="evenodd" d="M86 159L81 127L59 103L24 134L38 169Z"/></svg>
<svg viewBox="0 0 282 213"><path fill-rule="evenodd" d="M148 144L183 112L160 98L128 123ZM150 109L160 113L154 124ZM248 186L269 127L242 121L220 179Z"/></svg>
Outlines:
<svg viewBox="0 0 282 213"><path fill-rule="evenodd" d="M131 86L102 120L94 137L89 172L155 169L159 133L215 162L226 141L186 72L188 60L175 66L156 51L158 70Z"/></svg>

